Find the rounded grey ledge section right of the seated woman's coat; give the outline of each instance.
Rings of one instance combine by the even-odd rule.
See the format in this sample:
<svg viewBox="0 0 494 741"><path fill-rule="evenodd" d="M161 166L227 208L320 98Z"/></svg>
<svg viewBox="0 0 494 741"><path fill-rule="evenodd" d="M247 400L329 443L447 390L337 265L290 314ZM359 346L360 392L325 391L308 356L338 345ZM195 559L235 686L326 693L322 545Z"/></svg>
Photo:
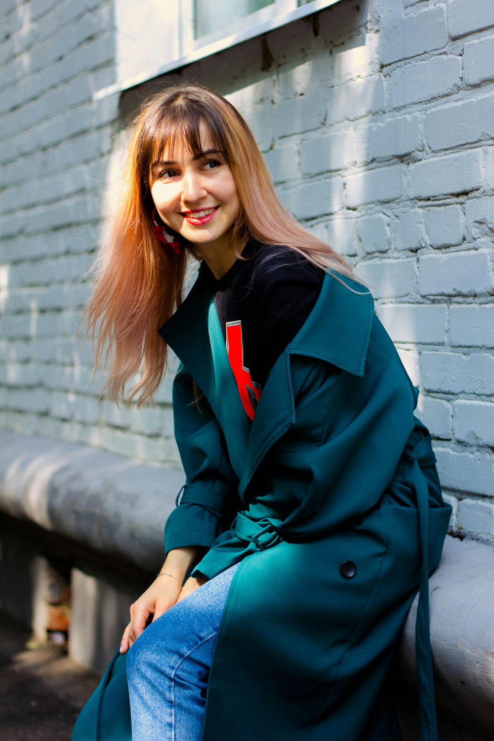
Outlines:
<svg viewBox="0 0 494 741"><path fill-rule="evenodd" d="M430 641L438 705L494 738L494 548L448 536L429 580ZM415 683L415 598L398 671ZM449 741L449 736L445 736Z"/></svg>

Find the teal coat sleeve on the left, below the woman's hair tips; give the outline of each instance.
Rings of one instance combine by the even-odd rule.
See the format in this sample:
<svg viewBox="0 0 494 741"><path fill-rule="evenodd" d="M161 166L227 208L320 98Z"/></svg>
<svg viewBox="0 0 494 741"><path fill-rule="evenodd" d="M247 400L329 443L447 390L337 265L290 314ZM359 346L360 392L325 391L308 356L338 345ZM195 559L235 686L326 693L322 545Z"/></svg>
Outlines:
<svg viewBox="0 0 494 741"><path fill-rule="evenodd" d="M196 404L193 379L183 367L173 382L173 409L186 482L164 528L166 553L190 545L209 548L230 526L239 504L238 479L221 428L204 396Z"/></svg>

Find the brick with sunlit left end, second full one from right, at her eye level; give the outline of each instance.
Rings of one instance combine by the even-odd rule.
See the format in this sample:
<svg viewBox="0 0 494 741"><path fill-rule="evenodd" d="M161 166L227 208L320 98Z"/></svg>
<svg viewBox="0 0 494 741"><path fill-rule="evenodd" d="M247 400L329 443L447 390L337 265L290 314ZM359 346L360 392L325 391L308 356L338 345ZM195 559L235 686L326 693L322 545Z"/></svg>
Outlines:
<svg viewBox="0 0 494 741"><path fill-rule="evenodd" d="M376 167L346 178L346 202L350 208L373 202L394 201L403 193L401 165Z"/></svg>

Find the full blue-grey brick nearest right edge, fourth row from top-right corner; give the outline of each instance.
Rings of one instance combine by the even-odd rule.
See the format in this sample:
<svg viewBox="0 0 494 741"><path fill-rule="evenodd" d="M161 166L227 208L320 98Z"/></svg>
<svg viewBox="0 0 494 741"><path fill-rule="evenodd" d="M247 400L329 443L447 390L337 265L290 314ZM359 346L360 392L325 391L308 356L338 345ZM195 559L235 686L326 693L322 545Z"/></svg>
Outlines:
<svg viewBox="0 0 494 741"><path fill-rule="evenodd" d="M413 198L469 193L481 183L480 154L476 151L433 157L410 168Z"/></svg>

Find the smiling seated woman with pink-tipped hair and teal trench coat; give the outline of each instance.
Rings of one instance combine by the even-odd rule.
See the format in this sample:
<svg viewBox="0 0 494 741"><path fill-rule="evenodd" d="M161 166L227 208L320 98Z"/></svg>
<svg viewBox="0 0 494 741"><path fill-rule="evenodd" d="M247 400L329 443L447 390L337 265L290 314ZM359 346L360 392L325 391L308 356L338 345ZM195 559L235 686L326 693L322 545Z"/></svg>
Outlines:
<svg viewBox="0 0 494 741"><path fill-rule="evenodd" d="M369 291L284 210L247 124L198 85L144 106L112 224L87 309L96 362L106 346L113 399L141 367L130 396L144 400L173 348L187 476L121 642L133 740L400 738L385 679L419 586L435 738L427 574L450 508Z"/></svg>

